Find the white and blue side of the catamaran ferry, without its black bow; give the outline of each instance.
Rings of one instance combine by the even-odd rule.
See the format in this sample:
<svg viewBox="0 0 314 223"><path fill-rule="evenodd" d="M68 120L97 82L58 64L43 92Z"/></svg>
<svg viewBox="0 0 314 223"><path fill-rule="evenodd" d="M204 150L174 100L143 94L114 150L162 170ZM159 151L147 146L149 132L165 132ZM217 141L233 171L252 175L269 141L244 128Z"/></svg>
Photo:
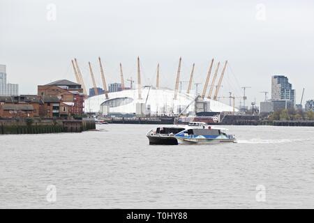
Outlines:
<svg viewBox="0 0 314 223"><path fill-rule="evenodd" d="M202 128L186 128L178 132L174 137L179 144L212 144L222 142L235 142L232 134L226 134L224 128L212 128L203 125Z"/></svg>

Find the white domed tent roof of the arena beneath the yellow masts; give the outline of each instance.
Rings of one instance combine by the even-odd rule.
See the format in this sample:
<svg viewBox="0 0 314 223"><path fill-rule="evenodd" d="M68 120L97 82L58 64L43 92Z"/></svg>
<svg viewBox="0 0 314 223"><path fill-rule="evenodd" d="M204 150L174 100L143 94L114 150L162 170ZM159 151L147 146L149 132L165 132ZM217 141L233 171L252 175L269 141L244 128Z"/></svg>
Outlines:
<svg viewBox="0 0 314 223"><path fill-rule="evenodd" d="M140 99L139 99L140 95ZM130 89L95 95L84 102L84 112L102 114L138 114L139 111L148 111L151 115L176 115L184 111L184 114L195 112L196 96L190 93L177 93L174 99L174 91L170 89L156 89L152 86L144 86L141 91ZM204 98L202 103L207 106L207 112L232 112L233 107L216 100ZM190 105L190 106L188 106ZM186 109L186 107L188 107ZM186 110L184 110L186 109Z"/></svg>

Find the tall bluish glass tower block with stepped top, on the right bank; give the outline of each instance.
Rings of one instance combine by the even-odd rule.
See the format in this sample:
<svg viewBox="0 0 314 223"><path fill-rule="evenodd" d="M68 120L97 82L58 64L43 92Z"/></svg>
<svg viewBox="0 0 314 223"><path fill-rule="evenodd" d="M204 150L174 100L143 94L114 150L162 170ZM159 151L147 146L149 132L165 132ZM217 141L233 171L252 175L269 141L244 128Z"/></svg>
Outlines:
<svg viewBox="0 0 314 223"><path fill-rule="evenodd" d="M290 100L295 105L295 90L283 75L271 77L271 100Z"/></svg>

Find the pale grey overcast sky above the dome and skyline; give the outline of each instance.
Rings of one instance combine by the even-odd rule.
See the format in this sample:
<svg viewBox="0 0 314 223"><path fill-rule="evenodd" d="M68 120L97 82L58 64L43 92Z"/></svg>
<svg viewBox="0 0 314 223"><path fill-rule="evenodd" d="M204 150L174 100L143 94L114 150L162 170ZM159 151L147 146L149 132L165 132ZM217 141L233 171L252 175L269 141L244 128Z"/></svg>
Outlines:
<svg viewBox="0 0 314 223"><path fill-rule="evenodd" d="M155 84L160 63L160 84L172 89L180 56L181 80L188 81L195 63L194 81L203 83L214 58L230 62L220 96L241 96L241 86L251 86L249 102L260 102L260 91L271 91L271 75L287 75L299 103L303 88L305 99L314 98L313 6L313 0L1 0L0 64L20 93L35 94L38 84L75 81L74 57L89 87L88 61L101 86L98 56L108 83L119 82L120 62L125 79L135 79L140 56L143 84Z"/></svg>

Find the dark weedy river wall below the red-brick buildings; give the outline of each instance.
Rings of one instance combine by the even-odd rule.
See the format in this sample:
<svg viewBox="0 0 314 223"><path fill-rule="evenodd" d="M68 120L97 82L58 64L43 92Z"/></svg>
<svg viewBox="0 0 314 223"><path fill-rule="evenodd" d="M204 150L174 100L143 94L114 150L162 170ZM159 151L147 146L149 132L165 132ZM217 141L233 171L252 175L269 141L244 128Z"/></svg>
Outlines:
<svg viewBox="0 0 314 223"><path fill-rule="evenodd" d="M87 130L96 130L96 123L94 120L0 120L0 134L45 134L84 132Z"/></svg>

